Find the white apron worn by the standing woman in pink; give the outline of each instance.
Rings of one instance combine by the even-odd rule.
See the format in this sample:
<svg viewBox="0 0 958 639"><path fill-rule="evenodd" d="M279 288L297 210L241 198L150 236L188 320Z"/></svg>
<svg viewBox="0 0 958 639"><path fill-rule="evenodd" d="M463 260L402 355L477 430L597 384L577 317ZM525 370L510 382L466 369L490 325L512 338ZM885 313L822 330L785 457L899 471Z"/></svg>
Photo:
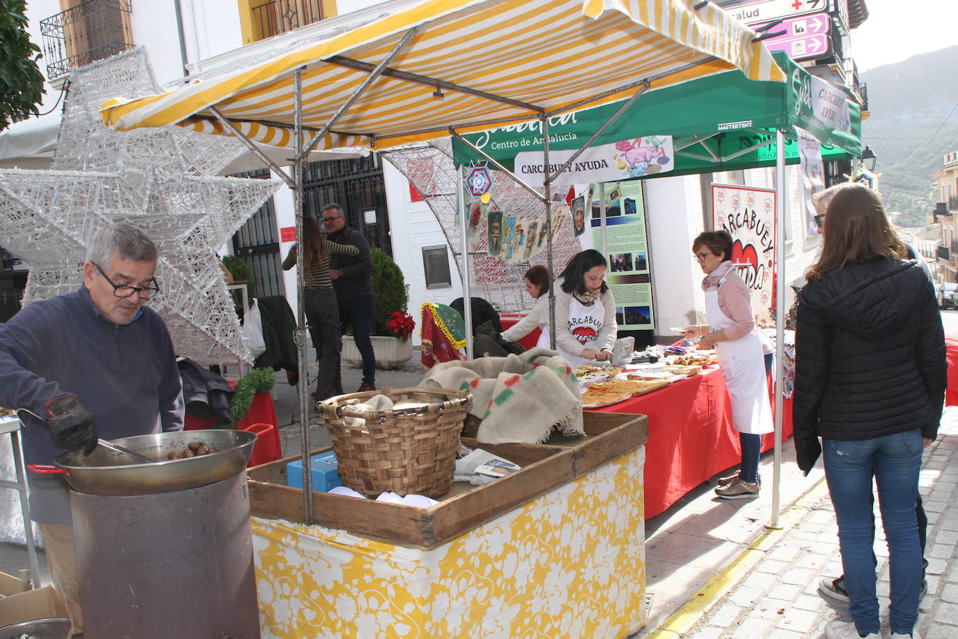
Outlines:
<svg viewBox="0 0 958 639"><path fill-rule="evenodd" d="M719 288L725 278L719 280ZM705 291L705 316L713 331L722 331L735 322L719 307L719 289ZM768 385L765 378L762 340L755 331L736 340L716 342L716 354L732 399L732 425L742 433L762 435L775 430Z"/></svg>

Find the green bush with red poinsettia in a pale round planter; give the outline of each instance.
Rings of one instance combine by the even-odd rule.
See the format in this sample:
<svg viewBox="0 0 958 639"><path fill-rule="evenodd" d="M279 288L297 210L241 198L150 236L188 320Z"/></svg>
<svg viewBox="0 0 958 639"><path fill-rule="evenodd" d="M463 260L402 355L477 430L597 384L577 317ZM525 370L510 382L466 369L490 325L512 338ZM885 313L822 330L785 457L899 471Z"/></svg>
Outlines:
<svg viewBox="0 0 958 639"><path fill-rule="evenodd" d="M410 339L416 328L416 320L406 313L409 304L409 285L402 270L393 259L374 248L373 296L376 312L373 314L373 351L376 352L376 368L395 370L413 356ZM362 366L362 357L356 349L353 335L343 335L343 361L354 368Z"/></svg>

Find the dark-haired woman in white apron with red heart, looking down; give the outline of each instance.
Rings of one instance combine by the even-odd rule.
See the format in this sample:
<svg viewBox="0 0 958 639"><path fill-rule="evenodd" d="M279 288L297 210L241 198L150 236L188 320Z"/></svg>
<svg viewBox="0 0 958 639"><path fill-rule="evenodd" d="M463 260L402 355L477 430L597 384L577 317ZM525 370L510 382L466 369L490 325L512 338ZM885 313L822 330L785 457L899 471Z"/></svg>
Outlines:
<svg viewBox="0 0 958 639"><path fill-rule="evenodd" d="M618 327L615 298L605 284L606 262L592 249L577 253L554 286L556 350L575 368L589 361L610 361ZM536 346L550 348L548 310Z"/></svg>

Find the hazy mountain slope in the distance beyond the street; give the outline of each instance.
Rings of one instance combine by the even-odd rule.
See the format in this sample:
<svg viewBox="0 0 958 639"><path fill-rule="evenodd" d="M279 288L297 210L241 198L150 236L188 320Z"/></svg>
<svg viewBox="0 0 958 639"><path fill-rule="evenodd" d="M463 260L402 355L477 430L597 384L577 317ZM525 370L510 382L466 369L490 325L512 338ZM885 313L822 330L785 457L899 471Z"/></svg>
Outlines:
<svg viewBox="0 0 958 639"><path fill-rule="evenodd" d="M931 173L942 167L946 153L958 150L956 68L958 46L860 74L871 112L861 123L862 146L878 155L878 188L886 209L901 212L901 226L928 221L939 200Z"/></svg>

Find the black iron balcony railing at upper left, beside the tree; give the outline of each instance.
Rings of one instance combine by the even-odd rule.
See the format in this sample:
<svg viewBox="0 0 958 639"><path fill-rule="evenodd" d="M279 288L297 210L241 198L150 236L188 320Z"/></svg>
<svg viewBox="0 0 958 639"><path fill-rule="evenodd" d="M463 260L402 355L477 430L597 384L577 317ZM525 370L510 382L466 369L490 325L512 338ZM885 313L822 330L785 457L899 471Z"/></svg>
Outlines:
<svg viewBox="0 0 958 639"><path fill-rule="evenodd" d="M115 56L133 48L129 27L132 0L86 0L40 20L47 78L55 80L71 67Z"/></svg>

